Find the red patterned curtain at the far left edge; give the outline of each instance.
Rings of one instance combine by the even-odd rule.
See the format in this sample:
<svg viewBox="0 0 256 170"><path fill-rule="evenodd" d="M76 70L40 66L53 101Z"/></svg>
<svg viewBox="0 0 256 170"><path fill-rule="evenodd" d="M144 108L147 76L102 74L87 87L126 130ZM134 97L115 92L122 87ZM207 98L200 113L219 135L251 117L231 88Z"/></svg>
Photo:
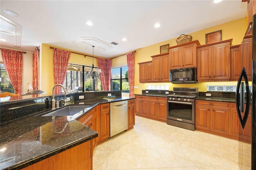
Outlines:
<svg viewBox="0 0 256 170"><path fill-rule="evenodd" d="M14 94L21 95L23 52L10 49L1 49L6 73L15 90Z"/></svg>

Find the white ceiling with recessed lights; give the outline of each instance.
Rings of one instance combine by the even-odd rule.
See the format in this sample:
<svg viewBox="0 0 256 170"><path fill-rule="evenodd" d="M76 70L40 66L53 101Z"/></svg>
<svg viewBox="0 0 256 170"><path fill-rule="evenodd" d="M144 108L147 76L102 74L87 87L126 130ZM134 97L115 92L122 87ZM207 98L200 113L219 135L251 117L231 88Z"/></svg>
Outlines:
<svg viewBox="0 0 256 170"><path fill-rule="evenodd" d="M16 42L13 36L6 36L9 39L1 41L1 47L34 51L47 43L92 55L91 45L95 45L94 55L100 57L113 57L247 16L247 3L241 0L218 4L213 0L0 0L0 8L2 16L18 25L16 29L22 27L20 40L19 35ZM9 16L5 9L19 16ZM86 25L88 20L93 26ZM160 28L154 28L156 22Z"/></svg>

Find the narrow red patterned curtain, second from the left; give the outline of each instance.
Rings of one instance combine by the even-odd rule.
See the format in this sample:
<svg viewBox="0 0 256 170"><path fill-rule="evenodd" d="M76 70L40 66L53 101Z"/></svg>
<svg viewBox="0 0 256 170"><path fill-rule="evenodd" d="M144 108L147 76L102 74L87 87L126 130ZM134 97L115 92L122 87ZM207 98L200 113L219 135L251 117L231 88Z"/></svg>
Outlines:
<svg viewBox="0 0 256 170"><path fill-rule="evenodd" d="M33 89L38 90L38 48L33 53Z"/></svg>

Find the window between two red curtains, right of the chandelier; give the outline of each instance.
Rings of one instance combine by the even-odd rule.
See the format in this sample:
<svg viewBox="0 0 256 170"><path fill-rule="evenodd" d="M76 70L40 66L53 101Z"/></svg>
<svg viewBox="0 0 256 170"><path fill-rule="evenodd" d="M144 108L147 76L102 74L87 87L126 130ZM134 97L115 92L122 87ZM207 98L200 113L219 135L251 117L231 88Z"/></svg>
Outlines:
<svg viewBox="0 0 256 170"><path fill-rule="evenodd" d="M112 69L111 89L122 90L127 93L130 92L127 66Z"/></svg>

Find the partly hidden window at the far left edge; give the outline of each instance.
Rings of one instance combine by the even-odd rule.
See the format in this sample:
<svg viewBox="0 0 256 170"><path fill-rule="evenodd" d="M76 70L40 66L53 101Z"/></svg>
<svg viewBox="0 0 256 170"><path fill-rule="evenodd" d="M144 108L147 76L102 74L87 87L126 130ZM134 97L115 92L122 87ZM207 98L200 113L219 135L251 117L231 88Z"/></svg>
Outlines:
<svg viewBox="0 0 256 170"><path fill-rule="evenodd" d="M12 86L12 83L6 73L5 67L3 63L0 63L0 75L1 75L1 87L0 90L2 92L9 92L9 93L14 93L14 88Z"/></svg>

